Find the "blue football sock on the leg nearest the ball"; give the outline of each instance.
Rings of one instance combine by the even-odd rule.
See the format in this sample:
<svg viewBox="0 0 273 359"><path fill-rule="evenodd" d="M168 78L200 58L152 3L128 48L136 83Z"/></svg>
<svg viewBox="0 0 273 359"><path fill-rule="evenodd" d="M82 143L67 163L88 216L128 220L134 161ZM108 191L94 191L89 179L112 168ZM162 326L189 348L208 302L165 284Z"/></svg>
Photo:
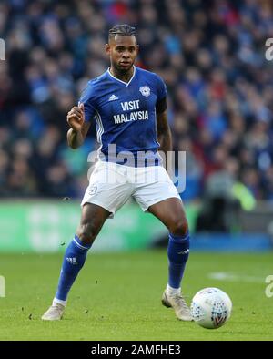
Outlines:
<svg viewBox="0 0 273 359"><path fill-rule="evenodd" d="M167 246L168 257L168 285L180 288L189 254L189 233L185 236L169 234Z"/></svg>

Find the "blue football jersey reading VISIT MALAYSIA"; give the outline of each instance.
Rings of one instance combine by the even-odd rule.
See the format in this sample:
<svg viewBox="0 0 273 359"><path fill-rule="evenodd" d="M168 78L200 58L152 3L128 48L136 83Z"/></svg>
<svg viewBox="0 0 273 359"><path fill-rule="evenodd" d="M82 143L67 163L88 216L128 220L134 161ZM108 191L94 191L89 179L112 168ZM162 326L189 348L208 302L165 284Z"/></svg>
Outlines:
<svg viewBox="0 0 273 359"><path fill-rule="evenodd" d="M160 164L156 105L166 96L161 77L139 67L134 67L128 83L114 77L109 69L89 81L79 103L85 105L86 121L96 118L98 157L126 164L122 156L116 159L109 152L108 146L113 149L115 145L117 155L129 151L140 159L145 153L145 165ZM135 161L134 166L141 166L139 163Z"/></svg>

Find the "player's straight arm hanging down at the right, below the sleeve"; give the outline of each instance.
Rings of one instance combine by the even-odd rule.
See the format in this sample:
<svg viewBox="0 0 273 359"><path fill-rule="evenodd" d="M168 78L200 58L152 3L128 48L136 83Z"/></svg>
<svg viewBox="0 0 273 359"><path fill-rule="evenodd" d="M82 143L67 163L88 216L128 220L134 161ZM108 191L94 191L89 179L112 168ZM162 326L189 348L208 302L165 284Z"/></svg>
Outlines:
<svg viewBox="0 0 273 359"><path fill-rule="evenodd" d="M167 152L173 149L172 135L167 122L167 100L164 97L157 103L157 141L160 144L159 151Z"/></svg>

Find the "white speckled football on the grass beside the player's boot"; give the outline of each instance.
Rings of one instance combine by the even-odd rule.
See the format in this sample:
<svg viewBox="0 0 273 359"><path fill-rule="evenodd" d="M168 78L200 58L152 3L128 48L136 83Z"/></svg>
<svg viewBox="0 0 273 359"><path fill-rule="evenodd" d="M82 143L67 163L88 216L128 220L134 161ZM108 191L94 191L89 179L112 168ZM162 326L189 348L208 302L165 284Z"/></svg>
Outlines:
<svg viewBox="0 0 273 359"><path fill-rule="evenodd" d="M205 288L193 297L190 311L194 321L207 329L217 329L227 323L232 302L226 292Z"/></svg>

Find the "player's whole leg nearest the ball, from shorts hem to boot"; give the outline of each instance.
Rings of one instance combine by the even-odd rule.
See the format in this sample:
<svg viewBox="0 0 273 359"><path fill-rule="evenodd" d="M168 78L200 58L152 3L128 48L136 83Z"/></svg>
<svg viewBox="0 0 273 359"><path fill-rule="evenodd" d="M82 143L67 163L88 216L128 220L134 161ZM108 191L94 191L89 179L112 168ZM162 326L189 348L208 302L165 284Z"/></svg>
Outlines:
<svg viewBox="0 0 273 359"><path fill-rule="evenodd" d="M167 307L173 307L178 319L192 321L180 288L189 253L189 234L183 204L177 198L170 198L158 202L148 210L169 230L168 283L167 289L163 293L162 303Z"/></svg>

